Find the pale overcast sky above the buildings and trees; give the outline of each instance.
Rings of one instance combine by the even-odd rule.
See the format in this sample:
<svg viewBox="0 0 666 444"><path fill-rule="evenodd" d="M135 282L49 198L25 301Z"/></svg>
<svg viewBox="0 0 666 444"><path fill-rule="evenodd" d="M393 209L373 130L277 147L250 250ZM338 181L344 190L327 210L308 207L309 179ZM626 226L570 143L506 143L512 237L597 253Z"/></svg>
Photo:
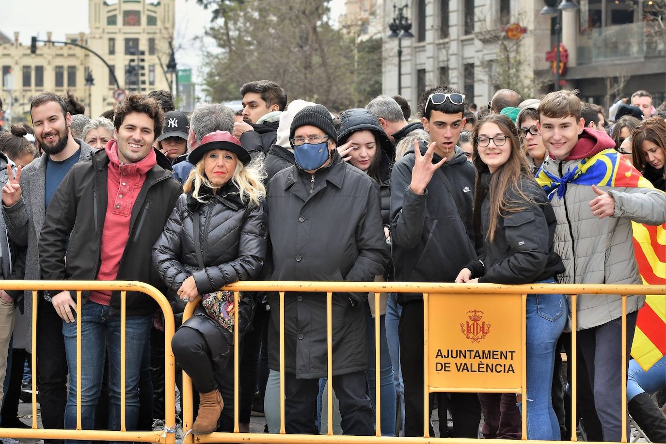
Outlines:
<svg viewBox="0 0 666 444"><path fill-rule="evenodd" d="M38 35L46 38L47 31L53 32L53 40L63 40L65 34L89 32L88 0L1 0L3 11L0 14L0 31L10 39L18 31L24 45L30 44L30 37ZM331 1L334 19L342 14L344 0ZM39 11L30 14L29 12ZM176 26L174 35L182 39L176 52L178 68L192 68L194 78L200 80L200 47L196 37L203 34L210 24L210 10L206 11L195 0L176 0ZM210 44L206 42L204 44ZM178 45L176 45L178 46Z"/></svg>

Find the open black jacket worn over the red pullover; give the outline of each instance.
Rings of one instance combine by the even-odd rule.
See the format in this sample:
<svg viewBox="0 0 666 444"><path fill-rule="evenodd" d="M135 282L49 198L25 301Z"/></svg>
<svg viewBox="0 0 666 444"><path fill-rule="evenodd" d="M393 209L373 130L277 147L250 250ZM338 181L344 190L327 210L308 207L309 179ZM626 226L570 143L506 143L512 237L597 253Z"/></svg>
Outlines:
<svg viewBox="0 0 666 444"><path fill-rule="evenodd" d="M79 162L56 190L39 238L39 264L43 280L95 280L101 264L101 244L107 215L107 168L105 150L92 154L91 162ZM166 156L158 156L161 162ZM117 280L136 280L166 288L151 260L151 249L182 194L182 187L170 176L167 164L149 170L132 208L129 241L125 246ZM67 244L69 236L69 244ZM67 263L65 263L67 256ZM82 292L82 303L90 296ZM73 292L72 298L77 295ZM120 292L111 294L111 314L120 313ZM127 292L127 315L155 314L157 304L141 292Z"/></svg>

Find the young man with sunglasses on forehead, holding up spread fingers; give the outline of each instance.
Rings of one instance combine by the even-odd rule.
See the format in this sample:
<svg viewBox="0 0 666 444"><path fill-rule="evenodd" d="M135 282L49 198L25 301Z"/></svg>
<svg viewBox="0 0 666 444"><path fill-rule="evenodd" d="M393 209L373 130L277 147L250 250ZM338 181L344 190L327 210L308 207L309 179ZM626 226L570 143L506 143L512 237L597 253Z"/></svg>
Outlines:
<svg viewBox="0 0 666 444"><path fill-rule="evenodd" d="M465 126L465 98L448 87L426 91L420 103L430 145L410 150L391 172L392 259L396 281L454 282L456 268L477 258L472 234L474 166L456 146ZM427 149L426 149L427 148ZM482 246L481 242L478 244ZM400 366L405 386L405 436L423 436L423 296L398 294ZM442 401L438 397L440 412ZM476 393L452 393L454 437L478 437ZM440 413L441 417L441 413Z"/></svg>

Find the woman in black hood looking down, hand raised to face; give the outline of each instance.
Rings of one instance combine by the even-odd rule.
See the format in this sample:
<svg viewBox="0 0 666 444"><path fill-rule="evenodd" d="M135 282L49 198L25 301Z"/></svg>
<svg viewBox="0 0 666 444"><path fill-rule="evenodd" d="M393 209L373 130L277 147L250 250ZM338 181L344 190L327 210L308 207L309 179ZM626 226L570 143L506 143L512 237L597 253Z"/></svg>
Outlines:
<svg viewBox="0 0 666 444"><path fill-rule="evenodd" d="M388 238L390 190L388 179L391 176L392 159L396 155L393 142L388 138L377 118L370 111L362 108L348 109L340 114L338 129L338 152L344 160L362 170L380 186L382 196L382 222ZM376 280L384 280L378 276ZM374 294L368 295L366 304L366 335L368 336L369 357L368 390L373 407L376 406L375 375L375 320L380 316L380 386L381 386L381 421L382 436L394 436L396 433L396 385L394 369L386 339L386 310L389 295L381 294L380 312L375 312ZM397 332L396 332L397 335ZM396 369L396 371L398 371Z"/></svg>

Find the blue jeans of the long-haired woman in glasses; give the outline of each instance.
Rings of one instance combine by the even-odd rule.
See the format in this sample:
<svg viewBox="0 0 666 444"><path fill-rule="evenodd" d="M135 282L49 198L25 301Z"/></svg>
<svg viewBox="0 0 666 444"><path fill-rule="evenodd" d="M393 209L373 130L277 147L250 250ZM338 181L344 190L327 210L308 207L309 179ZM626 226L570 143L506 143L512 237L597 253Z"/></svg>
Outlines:
<svg viewBox="0 0 666 444"><path fill-rule="evenodd" d="M550 284L555 280L542 282ZM560 439L551 385L555 344L566 322L567 302L563 295L527 295L527 439Z"/></svg>

